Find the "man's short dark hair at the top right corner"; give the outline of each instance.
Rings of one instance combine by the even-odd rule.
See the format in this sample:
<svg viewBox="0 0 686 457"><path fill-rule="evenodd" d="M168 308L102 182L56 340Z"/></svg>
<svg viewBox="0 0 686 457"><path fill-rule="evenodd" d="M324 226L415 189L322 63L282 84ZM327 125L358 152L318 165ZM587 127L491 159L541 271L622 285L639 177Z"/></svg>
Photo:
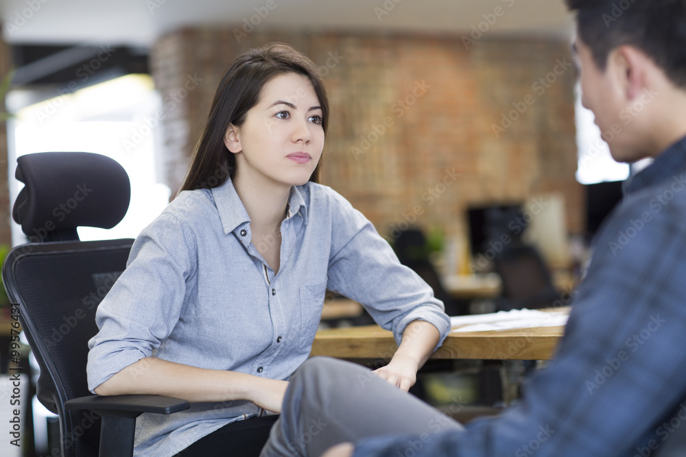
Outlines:
<svg viewBox="0 0 686 457"><path fill-rule="evenodd" d="M616 47L641 49L676 86L686 88L686 0L565 0L578 12L578 35L606 68Z"/></svg>

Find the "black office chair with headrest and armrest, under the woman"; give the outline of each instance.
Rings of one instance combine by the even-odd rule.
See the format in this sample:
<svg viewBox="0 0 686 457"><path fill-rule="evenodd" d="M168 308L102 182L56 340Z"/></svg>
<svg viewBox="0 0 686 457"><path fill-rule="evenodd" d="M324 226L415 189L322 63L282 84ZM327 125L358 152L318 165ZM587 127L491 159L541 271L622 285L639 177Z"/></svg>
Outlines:
<svg viewBox="0 0 686 457"><path fill-rule="evenodd" d="M59 415L60 455L131 456L136 417L171 414L189 403L158 395L100 397L88 391L86 360L88 340L97 332L95 310L126 267L133 240L82 242L76 227L119 223L130 200L126 171L99 154L49 152L20 157L15 176L25 187L12 217L32 243L10 251L2 279L10 301L18 304L21 327L40 366L38 399Z"/></svg>

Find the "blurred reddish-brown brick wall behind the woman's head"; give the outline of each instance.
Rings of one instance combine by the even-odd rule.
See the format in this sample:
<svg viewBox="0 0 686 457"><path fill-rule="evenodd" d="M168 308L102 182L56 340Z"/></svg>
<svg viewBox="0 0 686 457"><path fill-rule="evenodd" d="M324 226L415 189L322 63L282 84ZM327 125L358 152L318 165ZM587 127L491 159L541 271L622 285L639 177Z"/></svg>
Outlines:
<svg viewBox="0 0 686 457"><path fill-rule="evenodd" d="M460 36L259 27L241 42L232 27L169 34L154 45L151 64L163 96L177 99L165 118L172 193L224 69L238 53L272 40L303 51L326 73L332 110L322 182L382 234L413 220L464 233L469 205L545 193L564 195L567 229L582 232L576 71L567 42L484 39L468 50ZM202 82L178 92L190 78Z"/></svg>

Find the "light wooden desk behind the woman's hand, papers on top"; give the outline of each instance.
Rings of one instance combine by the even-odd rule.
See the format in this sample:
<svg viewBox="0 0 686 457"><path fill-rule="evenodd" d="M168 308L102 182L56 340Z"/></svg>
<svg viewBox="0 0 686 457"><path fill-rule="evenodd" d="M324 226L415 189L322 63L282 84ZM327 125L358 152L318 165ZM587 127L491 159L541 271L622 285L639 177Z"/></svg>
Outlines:
<svg viewBox="0 0 686 457"><path fill-rule="evenodd" d="M431 358L548 360L564 331L564 327L541 327L450 333ZM364 325L320 330L310 355L390 359L397 348L391 332L378 325Z"/></svg>

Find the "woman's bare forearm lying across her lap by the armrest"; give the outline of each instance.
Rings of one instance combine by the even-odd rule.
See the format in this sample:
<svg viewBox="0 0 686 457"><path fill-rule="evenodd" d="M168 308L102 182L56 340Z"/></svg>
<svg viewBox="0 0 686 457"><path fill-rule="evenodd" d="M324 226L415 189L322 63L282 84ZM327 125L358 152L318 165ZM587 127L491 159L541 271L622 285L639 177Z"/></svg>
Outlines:
<svg viewBox="0 0 686 457"><path fill-rule="evenodd" d="M288 385L240 373L190 367L155 357L146 357L113 375L97 388L98 395L167 395L189 402L249 400L264 409L279 412Z"/></svg>

